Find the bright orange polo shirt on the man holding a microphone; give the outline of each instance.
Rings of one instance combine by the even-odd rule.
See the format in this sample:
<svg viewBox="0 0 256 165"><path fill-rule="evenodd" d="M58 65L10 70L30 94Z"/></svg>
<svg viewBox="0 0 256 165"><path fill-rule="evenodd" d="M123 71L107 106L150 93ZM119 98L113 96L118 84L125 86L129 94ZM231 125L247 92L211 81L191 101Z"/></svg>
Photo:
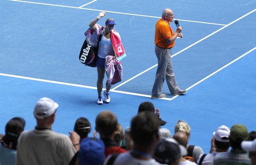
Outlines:
<svg viewBox="0 0 256 165"><path fill-rule="evenodd" d="M171 38L174 35L170 25L163 19L159 19L156 22L155 28L155 44L161 48L173 48L175 42L170 45L166 42L166 39Z"/></svg>

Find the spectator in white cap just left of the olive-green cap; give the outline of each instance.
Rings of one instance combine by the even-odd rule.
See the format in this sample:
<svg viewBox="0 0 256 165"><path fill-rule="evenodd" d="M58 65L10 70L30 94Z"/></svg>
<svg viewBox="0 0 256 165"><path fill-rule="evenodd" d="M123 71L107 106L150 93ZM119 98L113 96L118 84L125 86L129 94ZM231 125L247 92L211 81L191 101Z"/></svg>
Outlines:
<svg viewBox="0 0 256 165"><path fill-rule="evenodd" d="M197 163L202 165L212 165L214 156L220 152L228 152L229 149L229 135L230 129L227 126L218 127L213 132L213 138L211 138L211 150L208 154L201 154Z"/></svg>

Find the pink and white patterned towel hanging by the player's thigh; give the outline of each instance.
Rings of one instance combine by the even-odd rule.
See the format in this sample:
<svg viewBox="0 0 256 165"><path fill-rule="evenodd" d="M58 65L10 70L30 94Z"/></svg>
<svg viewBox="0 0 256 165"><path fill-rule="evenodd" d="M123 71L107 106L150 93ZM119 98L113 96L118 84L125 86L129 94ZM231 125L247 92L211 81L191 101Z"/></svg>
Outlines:
<svg viewBox="0 0 256 165"><path fill-rule="evenodd" d="M122 80L122 65L114 56L106 56L105 68L109 85L114 85Z"/></svg>

